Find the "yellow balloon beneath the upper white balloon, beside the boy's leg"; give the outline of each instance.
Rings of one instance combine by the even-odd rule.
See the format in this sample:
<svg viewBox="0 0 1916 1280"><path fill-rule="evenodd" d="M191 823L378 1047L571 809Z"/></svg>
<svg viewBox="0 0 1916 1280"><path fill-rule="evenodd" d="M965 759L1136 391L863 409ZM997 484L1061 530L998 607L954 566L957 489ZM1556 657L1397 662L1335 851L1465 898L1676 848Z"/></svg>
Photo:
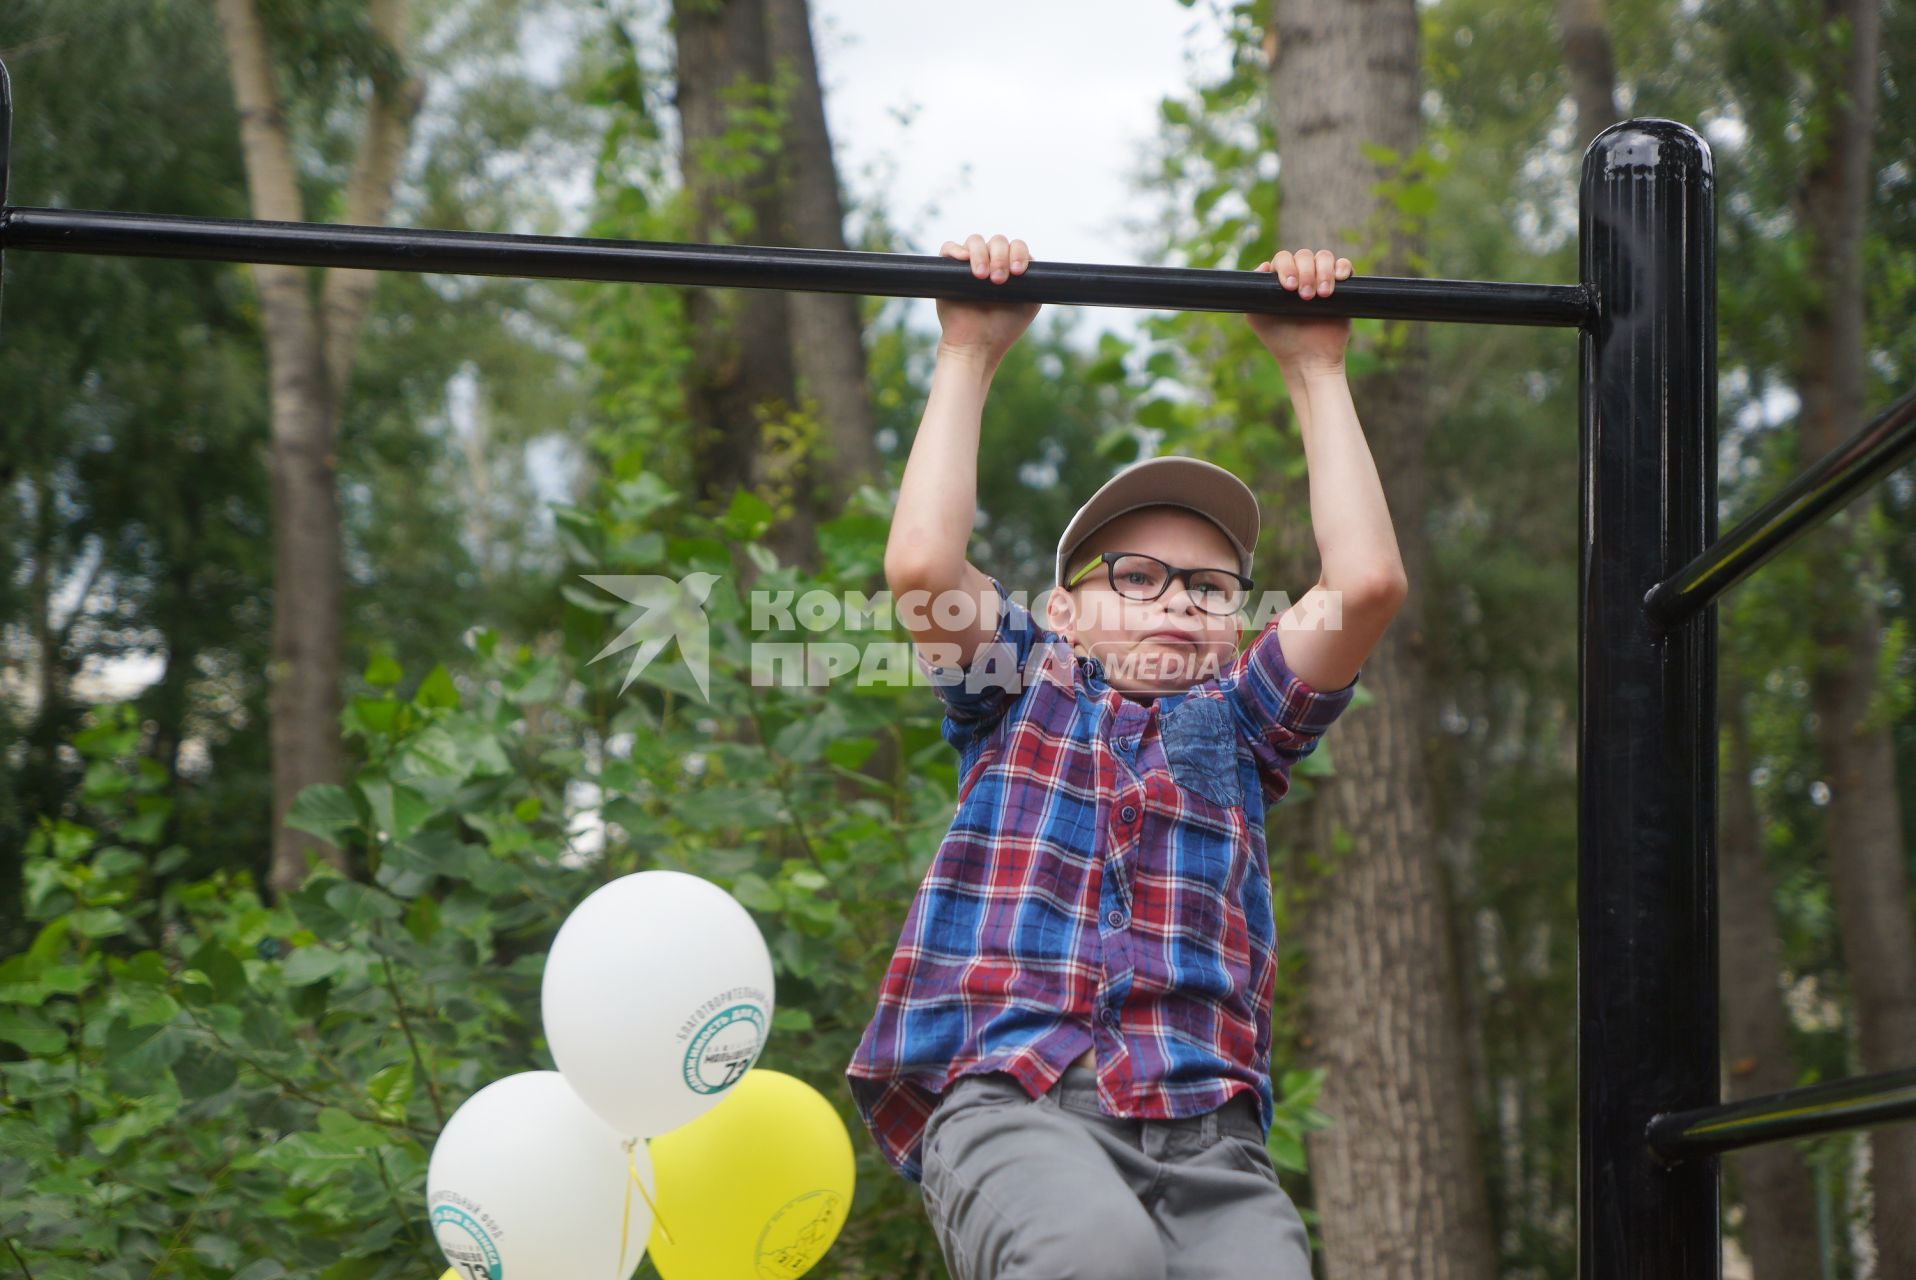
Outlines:
<svg viewBox="0 0 1916 1280"><path fill-rule="evenodd" d="M747 1071L724 1102L646 1148L659 1188L646 1251L665 1280L795 1280L851 1213L845 1121L782 1071Z"/></svg>

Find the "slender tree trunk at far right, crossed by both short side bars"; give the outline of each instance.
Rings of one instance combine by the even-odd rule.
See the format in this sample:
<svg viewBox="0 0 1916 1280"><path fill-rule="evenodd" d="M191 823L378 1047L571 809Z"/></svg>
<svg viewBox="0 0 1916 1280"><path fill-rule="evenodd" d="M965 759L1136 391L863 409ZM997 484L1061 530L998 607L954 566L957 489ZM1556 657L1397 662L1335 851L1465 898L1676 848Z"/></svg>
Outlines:
<svg viewBox="0 0 1916 1280"><path fill-rule="evenodd" d="M1809 238L1805 274L1803 464L1822 458L1864 420L1862 218L1870 192L1870 138L1876 132L1876 79L1882 11L1876 0L1828 0L1824 21L1849 29L1843 42L1818 42L1816 109L1822 146L1797 192ZM1882 581L1862 514L1872 494L1832 521L1811 546L1809 609L1818 661L1811 669L1816 742L1830 784L1830 878L1843 956L1855 993L1857 1040L1866 1071L1916 1063L1916 937L1905 866L1903 809L1891 738L1876 697L1882 615L1866 586ZM1845 571L1864 561L1864 583ZM1916 1125L1870 1132L1878 1274L1916 1276Z"/></svg>

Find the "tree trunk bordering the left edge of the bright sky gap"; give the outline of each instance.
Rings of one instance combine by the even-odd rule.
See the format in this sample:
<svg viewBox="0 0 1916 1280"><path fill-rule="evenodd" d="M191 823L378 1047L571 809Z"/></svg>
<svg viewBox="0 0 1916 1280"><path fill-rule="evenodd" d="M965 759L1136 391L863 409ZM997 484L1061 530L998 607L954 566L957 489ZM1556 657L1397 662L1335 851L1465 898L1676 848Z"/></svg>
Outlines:
<svg viewBox="0 0 1916 1280"><path fill-rule="evenodd" d="M832 134L826 130L824 90L812 52L805 0L764 0L772 67L789 73L786 100L786 243L807 249L845 247L845 207L839 201ZM878 479L878 445L864 360L860 299L853 293L793 293L793 362L799 387L818 400L820 492L816 515L837 515L862 483Z"/></svg>

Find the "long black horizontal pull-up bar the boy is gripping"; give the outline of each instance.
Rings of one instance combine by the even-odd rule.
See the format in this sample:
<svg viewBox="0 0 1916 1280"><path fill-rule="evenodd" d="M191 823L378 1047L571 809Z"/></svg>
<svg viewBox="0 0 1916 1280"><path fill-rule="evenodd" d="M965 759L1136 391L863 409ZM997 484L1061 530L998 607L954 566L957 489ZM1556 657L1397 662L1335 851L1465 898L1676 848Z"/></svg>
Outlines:
<svg viewBox="0 0 1916 1280"><path fill-rule="evenodd" d="M0 249L1165 310L1284 314L1309 309L1312 316L1464 324L1577 328L1590 314L1581 286L1558 284L1358 276L1339 282L1330 297L1305 301L1274 286L1268 276L1247 270L1092 266L1040 259L1023 276L994 286L973 278L966 263L912 253L680 245L77 209L0 209Z"/></svg>

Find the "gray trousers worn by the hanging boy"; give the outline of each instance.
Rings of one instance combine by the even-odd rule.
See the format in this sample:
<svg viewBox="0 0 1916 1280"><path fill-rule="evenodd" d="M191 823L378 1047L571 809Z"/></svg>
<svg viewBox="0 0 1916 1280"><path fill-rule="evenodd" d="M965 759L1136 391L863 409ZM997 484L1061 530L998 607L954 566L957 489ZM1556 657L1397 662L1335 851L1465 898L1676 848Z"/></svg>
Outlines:
<svg viewBox="0 0 1916 1280"><path fill-rule="evenodd" d="M1037 1100L1010 1075L966 1075L924 1142L920 1190L952 1280L1311 1280L1249 1094L1136 1121L1098 1111L1090 1067Z"/></svg>

